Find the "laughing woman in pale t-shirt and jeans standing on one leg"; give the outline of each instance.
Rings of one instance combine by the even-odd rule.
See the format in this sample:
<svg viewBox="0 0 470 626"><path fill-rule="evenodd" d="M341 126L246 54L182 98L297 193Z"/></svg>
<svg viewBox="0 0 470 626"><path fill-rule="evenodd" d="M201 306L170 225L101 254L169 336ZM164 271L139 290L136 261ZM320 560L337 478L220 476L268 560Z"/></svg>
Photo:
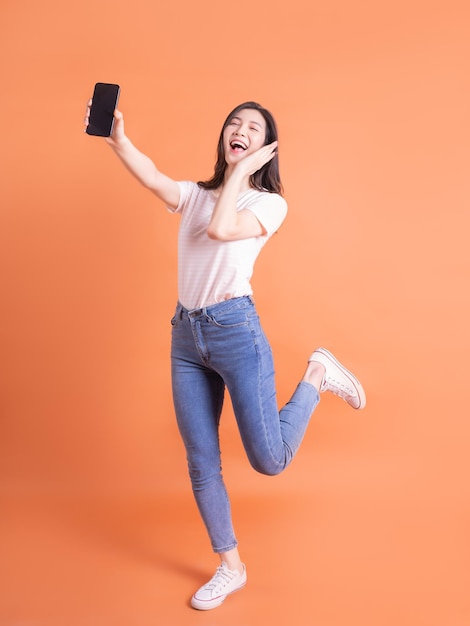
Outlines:
<svg viewBox="0 0 470 626"><path fill-rule="evenodd" d="M88 117L89 107L86 125ZM207 610L247 580L221 475L224 390L251 465L268 475L292 461L320 392L330 391L354 409L362 409L366 398L351 372L318 348L292 398L278 410L272 353L250 285L256 257L287 212L271 113L255 102L237 106L223 124L214 174L199 183L165 176L126 137L122 113L116 110L114 117L106 141L127 169L181 216L172 388L194 496L220 557L214 576L191 599L194 608Z"/></svg>

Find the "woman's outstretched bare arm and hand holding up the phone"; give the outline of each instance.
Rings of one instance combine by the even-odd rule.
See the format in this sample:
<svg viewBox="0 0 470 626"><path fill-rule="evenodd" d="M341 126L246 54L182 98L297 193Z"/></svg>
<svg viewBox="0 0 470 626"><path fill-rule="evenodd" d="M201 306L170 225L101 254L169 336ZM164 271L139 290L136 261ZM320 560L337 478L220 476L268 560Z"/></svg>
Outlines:
<svg viewBox="0 0 470 626"><path fill-rule="evenodd" d="M88 125L91 100L88 102L85 116L85 128ZM106 138L125 167L137 180L150 189L167 206L176 209L180 190L178 183L157 169L153 161L140 152L124 132L124 118L120 111L114 111L114 127L111 137Z"/></svg>

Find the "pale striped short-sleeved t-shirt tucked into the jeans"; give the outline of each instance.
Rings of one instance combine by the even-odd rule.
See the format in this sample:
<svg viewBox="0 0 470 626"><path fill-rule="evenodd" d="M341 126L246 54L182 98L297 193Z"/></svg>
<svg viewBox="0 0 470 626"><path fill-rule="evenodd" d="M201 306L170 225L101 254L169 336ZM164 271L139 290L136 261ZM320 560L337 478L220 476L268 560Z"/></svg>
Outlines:
<svg viewBox="0 0 470 626"><path fill-rule="evenodd" d="M249 189L239 194L237 210L253 211L266 235L238 241L217 241L207 227L217 201L212 190L179 182L180 201L172 212L181 214L178 235L178 298L189 309L252 295L251 277L256 258L280 227L287 203L275 193ZM171 209L170 209L171 210Z"/></svg>

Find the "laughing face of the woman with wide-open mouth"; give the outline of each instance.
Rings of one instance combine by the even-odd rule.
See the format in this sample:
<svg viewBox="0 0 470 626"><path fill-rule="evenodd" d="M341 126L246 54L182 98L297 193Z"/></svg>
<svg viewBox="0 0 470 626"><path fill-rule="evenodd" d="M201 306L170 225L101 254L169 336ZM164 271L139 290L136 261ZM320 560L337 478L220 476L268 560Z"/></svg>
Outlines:
<svg viewBox="0 0 470 626"><path fill-rule="evenodd" d="M225 161L235 165L264 146L266 121L256 109L242 109L232 117L223 133Z"/></svg>

